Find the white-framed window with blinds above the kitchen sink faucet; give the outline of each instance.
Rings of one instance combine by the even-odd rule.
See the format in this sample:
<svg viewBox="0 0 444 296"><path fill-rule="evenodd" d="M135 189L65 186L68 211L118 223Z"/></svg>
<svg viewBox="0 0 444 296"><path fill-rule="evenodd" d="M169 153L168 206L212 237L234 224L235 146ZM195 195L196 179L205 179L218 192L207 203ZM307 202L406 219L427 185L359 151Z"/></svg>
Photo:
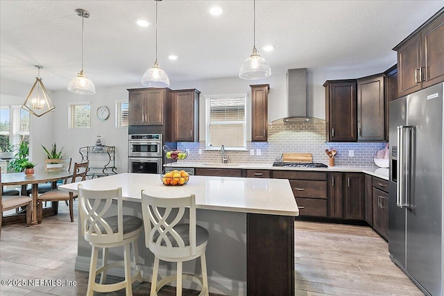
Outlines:
<svg viewBox="0 0 444 296"><path fill-rule="evenodd" d="M205 148L246 150L246 94L205 96Z"/></svg>

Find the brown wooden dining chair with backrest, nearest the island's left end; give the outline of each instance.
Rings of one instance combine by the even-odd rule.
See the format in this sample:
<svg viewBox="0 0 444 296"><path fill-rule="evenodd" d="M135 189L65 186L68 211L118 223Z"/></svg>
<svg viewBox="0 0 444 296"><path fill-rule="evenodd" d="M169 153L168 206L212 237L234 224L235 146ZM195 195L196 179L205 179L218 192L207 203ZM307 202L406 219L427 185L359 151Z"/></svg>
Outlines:
<svg viewBox="0 0 444 296"><path fill-rule="evenodd" d="M85 181L86 174L88 171L89 162L75 162L74 163L74 171L71 177L71 183ZM65 179L65 184L67 184L67 180ZM43 202L59 202L62 200L68 201L69 204L69 216L71 217L71 222L74 222L74 209L73 202L74 199L77 198L77 195L74 195L72 192L62 191L60 189L53 189L42 195L39 195L37 198L37 222L42 223L42 214L43 214ZM56 207L57 208L57 207Z"/></svg>

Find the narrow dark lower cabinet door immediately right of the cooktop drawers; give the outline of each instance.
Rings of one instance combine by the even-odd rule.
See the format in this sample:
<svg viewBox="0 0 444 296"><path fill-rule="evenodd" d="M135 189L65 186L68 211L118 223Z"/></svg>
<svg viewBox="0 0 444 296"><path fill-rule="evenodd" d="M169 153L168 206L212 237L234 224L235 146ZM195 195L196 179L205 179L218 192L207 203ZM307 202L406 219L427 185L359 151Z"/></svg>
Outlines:
<svg viewBox="0 0 444 296"><path fill-rule="evenodd" d="M330 173L328 204L330 218L344 218L343 173Z"/></svg>

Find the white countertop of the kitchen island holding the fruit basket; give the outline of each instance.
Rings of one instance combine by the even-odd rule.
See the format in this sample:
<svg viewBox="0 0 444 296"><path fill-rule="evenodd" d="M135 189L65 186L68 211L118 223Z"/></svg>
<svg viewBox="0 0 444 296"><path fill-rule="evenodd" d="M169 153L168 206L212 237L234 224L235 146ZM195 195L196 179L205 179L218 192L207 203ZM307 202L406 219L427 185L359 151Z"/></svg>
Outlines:
<svg viewBox="0 0 444 296"><path fill-rule="evenodd" d="M246 177L190 176L183 186L165 186L160 175L121 173L83 182L58 186L65 191L77 192L78 184L87 189L122 187L124 200L140 202L142 189L151 195L176 197L195 194L196 208L242 213L298 216L289 180Z"/></svg>

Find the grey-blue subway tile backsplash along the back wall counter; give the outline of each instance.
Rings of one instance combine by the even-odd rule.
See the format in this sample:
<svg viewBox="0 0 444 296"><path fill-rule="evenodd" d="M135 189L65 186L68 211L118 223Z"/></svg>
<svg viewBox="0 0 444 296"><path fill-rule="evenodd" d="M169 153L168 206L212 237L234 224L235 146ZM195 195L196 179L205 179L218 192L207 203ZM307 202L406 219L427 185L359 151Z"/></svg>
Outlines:
<svg viewBox="0 0 444 296"><path fill-rule="evenodd" d="M275 121L268 125L268 142L247 142L246 151L226 151L228 163L235 164L272 164L282 153L311 153L313 162L328 164L325 149L336 148L336 166L376 166L373 158L377 150L384 148L385 143L326 143L325 121L284 123ZM221 162L220 151L205 150L205 142L178 143L178 149L189 150L187 159L179 162ZM202 155L198 155L198 150ZM250 155L250 150L255 155ZM257 149L261 155L257 155ZM349 157L349 150L353 150L354 157Z"/></svg>

